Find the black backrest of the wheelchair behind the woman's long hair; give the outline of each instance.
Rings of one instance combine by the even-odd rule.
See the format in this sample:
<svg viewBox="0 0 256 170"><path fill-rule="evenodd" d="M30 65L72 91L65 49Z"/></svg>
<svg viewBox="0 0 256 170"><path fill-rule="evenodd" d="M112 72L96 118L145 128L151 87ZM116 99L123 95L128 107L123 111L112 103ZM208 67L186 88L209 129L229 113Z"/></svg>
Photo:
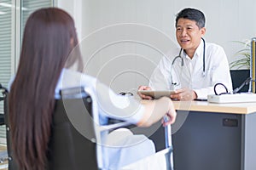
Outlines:
<svg viewBox="0 0 256 170"><path fill-rule="evenodd" d="M47 169L98 169L96 136L90 116L92 100L90 95L81 91L82 89L62 90L61 99L55 100ZM4 114L7 127L9 170L16 170L18 168L13 157L10 139L9 94L6 93L5 96Z"/></svg>

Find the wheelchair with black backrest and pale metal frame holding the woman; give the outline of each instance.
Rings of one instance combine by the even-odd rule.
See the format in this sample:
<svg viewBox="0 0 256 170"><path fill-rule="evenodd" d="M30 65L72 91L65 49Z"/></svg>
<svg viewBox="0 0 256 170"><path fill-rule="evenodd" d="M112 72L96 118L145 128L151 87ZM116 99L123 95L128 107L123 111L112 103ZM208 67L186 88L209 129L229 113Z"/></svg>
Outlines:
<svg viewBox="0 0 256 170"><path fill-rule="evenodd" d="M1 84L0 84L1 85ZM9 127L9 92L0 87L4 104L3 125L6 125L7 158L9 170L18 169L11 149ZM96 99L89 89L62 89L61 99L55 99L47 169L102 169L102 141L111 130L131 125L115 122L101 126ZM166 127L166 149L156 152L120 169L173 170L171 126ZM1 155L0 155L1 156Z"/></svg>

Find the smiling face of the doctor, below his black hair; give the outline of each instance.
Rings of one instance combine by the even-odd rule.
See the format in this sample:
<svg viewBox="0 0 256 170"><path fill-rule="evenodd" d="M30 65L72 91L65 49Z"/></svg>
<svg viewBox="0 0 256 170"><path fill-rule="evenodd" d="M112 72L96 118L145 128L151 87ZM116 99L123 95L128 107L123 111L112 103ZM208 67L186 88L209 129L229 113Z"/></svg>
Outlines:
<svg viewBox="0 0 256 170"><path fill-rule="evenodd" d="M186 54L192 58L195 54L196 48L201 42L201 37L204 36L206 28L199 28L195 20L179 19L176 26L176 38L181 48Z"/></svg>

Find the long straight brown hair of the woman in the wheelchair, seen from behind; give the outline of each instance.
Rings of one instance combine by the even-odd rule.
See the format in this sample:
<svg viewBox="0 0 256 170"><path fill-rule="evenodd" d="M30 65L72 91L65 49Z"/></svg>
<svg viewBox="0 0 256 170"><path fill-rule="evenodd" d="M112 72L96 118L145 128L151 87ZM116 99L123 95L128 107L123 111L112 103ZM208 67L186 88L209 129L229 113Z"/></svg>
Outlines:
<svg viewBox="0 0 256 170"><path fill-rule="evenodd" d="M77 44L73 19L60 8L38 9L26 21L9 95L12 148L21 170L46 167L55 86L67 60L75 62L68 56Z"/></svg>

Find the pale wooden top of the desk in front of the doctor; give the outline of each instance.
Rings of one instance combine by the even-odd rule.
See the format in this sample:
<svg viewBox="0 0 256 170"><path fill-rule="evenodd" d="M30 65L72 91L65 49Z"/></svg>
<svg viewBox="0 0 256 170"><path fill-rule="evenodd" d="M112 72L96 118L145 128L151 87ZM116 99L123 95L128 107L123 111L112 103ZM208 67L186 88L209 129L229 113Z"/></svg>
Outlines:
<svg viewBox="0 0 256 170"><path fill-rule="evenodd" d="M173 101L176 110L180 111L207 111L235 114L249 114L256 112L256 102L213 104L207 101Z"/></svg>

